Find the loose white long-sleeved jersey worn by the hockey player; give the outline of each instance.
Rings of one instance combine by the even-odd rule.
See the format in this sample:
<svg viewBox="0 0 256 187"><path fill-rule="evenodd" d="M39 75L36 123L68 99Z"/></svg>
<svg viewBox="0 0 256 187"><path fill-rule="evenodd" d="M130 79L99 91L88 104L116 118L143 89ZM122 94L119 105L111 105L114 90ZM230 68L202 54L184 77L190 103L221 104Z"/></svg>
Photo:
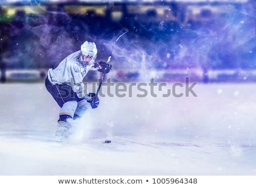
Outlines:
<svg viewBox="0 0 256 187"><path fill-rule="evenodd" d="M94 62L90 65L82 64L79 60L79 54L80 51L76 51L65 57L55 69L49 69L48 79L52 85L70 85L79 98L90 99L91 97L85 90L82 80L89 70L97 70L97 68L93 67Z"/></svg>

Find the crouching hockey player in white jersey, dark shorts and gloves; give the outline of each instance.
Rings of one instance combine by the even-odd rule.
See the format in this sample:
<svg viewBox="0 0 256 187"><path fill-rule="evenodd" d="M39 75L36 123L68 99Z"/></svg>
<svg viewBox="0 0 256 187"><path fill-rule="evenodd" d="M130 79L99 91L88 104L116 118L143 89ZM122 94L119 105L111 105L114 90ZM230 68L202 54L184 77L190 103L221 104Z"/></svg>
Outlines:
<svg viewBox="0 0 256 187"><path fill-rule="evenodd" d="M112 68L105 62L95 63L97 47L85 41L81 49L65 57L56 68L48 70L46 88L60 106L56 142L63 142L71 134L72 123L82 117L88 105L95 109L100 100L95 93L88 93L82 82L89 70L109 73Z"/></svg>

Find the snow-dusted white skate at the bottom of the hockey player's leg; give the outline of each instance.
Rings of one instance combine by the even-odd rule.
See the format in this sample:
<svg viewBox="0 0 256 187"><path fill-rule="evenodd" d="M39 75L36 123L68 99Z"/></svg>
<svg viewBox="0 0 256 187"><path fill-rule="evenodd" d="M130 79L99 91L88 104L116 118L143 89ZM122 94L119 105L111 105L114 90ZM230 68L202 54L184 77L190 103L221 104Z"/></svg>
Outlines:
<svg viewBox="0 0 256 187"><path fill-rule="evenodd" d="M55 134L55 142L64 142L68 139L71 134L71 124L70 123L59 123Z"/></svg>

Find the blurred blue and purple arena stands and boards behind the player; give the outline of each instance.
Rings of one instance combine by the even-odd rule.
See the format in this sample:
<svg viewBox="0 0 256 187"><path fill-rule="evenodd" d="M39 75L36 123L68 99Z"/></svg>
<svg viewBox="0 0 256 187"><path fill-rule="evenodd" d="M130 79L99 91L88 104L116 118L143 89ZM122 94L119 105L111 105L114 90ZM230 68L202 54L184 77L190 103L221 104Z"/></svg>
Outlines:
<svg viewBox="0 0 256 187"><path fill-rule="evenodd" d="M0 1L1 82L43 81L95 41L113 81L256 81L254 0ZM89 74L90 80L99 76Z"/></svg>

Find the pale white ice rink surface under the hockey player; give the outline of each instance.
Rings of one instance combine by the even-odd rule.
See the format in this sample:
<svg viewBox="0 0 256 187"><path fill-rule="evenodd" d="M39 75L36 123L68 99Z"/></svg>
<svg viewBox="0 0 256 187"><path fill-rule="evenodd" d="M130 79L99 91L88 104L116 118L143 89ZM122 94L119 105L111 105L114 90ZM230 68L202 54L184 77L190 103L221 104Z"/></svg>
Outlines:
<svg viewBox="0 0 256 187"><path fill-rule="evenodd" d="M0 89L1 175L256 174L255 84L101 97L65 143L53 141L59 106L43 83Z"/></svg>

